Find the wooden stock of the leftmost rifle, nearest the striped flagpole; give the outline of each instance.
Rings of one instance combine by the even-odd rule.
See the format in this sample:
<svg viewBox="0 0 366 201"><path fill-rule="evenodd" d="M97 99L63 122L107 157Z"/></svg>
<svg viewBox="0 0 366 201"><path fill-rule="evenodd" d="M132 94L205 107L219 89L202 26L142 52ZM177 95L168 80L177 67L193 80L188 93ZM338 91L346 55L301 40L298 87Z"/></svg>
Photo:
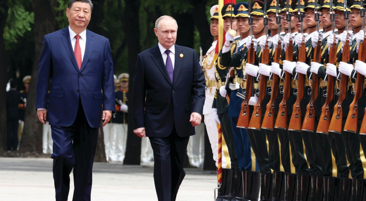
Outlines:
<svg viewBox="0 0 366 201"><path fill-rule="evenodd" d="M255 62L255 51L254 42L250 42L250 48L248 50L247 63L253 64ZM249 127L249 99L253 93L253 77L251 75L246 75L246 89L245 89L245 99L242 103L242 108L240 109L238 123L236 127L245 128Z"/></svg>

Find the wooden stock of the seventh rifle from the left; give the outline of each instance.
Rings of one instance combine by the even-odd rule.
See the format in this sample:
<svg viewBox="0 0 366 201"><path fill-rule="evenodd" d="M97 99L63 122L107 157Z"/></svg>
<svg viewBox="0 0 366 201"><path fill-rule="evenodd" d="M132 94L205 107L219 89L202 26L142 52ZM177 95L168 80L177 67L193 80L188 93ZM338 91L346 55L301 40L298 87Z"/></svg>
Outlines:
<svg viewBox="0 0 366 201"><path fill-rule="evenodd" d="M329 49L329 63L335 64L337 61L337 42L333 41L333 46ZM321 108L320 119L318 122L317 133L329 134L328 128L330 123L330 101L333 100L334 96L334 77L328 75L328 84L326 87L327 95L325 103Z"/></svg>

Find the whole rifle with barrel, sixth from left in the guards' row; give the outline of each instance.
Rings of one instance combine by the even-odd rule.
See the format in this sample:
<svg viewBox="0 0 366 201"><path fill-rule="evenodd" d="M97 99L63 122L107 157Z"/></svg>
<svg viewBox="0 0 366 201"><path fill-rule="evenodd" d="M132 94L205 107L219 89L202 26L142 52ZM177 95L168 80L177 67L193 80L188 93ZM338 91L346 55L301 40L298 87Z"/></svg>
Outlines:
<svg viewBox="0 0 366 201"><path fill-rule="evenodd" d="M318 8L317 8L317 2L318 0L315 0L315 21L317 22L317 31L319 33L319 17L320 14L317 12ZM320 63L320 54L321 54L321 35L319 34L318 37L318 44L317 46L315 46L314 49L314 62L318 62ZM315 109L314 109L314 102L315 100L317 100L318 98L318 92L319 92L319 79L318 79L318 75L317 74L312 74L313 78L312 78L312 83L311 83L311 95L310 95L310 101L309 104L307 104L306 106L306 113L307 115L305 115L304 118L304 122L302 124L302 128L301 130L304 131L310 131L310 132L314 132L315 130Z"/></svg>

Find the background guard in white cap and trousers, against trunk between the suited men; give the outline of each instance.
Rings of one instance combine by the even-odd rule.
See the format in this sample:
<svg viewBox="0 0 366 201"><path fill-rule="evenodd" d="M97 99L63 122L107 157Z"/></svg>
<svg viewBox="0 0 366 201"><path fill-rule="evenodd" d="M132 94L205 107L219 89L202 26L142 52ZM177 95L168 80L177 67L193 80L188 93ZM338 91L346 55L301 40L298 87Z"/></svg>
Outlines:
<svg viewBox="0 0 366 201"><path fill-rule="evenodd" d="M128 106L127 106L127 93L128 93L128 79L130 75L128 73L122 73L118 76L120 82L120 90L116 91L116 101L119 102L120 107L116 107L117 123L117 160L123 162L124 153L126 152L127 142L127 120L128 120Z"/></svg>

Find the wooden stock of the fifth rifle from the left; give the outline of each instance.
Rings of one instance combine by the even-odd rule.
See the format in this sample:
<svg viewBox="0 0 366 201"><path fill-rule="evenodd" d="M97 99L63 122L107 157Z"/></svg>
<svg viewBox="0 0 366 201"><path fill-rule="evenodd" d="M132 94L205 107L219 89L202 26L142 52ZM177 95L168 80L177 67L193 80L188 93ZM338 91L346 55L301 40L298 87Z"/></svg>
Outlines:
<svg viewBox="0 0 366 201"><path fill-rule="evenodd" d="M303 36L301 46L299 47L298 61L306 61L306 48L305 48L305 38ZM288 124L288 130L301 131L301 108L300 102L304 97L304 79L305 75L298 74L298 87L297 87L297 97L294 106L292 106L292 116L290 123Z"/></svg>

